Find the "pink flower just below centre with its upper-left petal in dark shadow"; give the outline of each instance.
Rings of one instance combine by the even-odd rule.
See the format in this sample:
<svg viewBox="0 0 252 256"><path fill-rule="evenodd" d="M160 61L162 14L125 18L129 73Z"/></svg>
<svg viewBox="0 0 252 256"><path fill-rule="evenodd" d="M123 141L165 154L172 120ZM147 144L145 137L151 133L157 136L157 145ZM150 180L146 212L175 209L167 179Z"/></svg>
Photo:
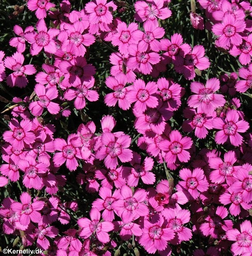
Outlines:
<svg viewBox="0 0 252 256"><path fill-rule="evenodd" d="M127 167L129 174L127 175L127 184L131 187L138 185L139 179L144 184L154 184L155 174L150 172L153 168L154 161L150 157L146 157L141 163L141 156L136 152L133 152L133 159L130 161L132 168Z"/></svg>

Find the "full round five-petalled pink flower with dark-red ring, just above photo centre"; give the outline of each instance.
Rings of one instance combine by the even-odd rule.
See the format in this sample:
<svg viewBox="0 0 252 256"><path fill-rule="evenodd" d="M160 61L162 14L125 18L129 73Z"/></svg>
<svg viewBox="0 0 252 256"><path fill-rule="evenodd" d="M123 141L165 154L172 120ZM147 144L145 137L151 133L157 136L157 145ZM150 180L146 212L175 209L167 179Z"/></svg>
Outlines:
<svg viewBox="0 0 252 256"><path fill-rule="evenodd" d="M142 79L136 79L129 92L126 95L127 100L134 104L134 108L139 113L143 113L147 107L154 108L158 105L158 98L155 97L157 92L157 84L155 82L145 82Z"/></svg>

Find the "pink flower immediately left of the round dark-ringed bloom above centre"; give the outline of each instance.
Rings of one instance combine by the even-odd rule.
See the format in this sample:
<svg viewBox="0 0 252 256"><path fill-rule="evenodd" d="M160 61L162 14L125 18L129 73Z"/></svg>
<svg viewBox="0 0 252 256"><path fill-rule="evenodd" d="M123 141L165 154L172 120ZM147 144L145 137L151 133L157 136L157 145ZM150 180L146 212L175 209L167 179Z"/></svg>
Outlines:
<svg viewBox="0 0 252 256"><path fill-rule="evenodd" d="M116 106L116 103L118 102L118 106L121 109L129 109L130 102L126 97L129 87L125 87L126 82L125 76L122 74L118 74L116 77L106 78L105 84L114 91L113 93L108 93L104 97L104 102L107 106Z"/></svg>

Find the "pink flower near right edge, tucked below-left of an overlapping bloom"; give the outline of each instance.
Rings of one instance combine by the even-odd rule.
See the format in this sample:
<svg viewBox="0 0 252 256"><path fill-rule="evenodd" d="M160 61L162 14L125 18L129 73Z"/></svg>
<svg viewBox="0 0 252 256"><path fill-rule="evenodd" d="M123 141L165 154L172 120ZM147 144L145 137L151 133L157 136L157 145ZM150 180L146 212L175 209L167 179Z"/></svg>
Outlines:
<svg viewBox="0 0 252 256"><path fill-rule="evenodd" d="M242 191L235 193L232 188L227 188L226 192L221 194L219 201L223 205L231 204L229 207L230 214L237 216L241 213L241 207L249 210L252 206L252 201L245 203L243 200Z"/></svg>

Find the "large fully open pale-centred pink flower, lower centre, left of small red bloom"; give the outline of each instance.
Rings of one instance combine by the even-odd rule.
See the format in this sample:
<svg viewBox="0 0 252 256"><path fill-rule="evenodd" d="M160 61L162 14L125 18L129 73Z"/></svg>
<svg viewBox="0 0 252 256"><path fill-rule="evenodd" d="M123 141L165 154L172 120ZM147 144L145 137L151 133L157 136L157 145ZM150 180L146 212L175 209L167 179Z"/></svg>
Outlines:
<svg viewBox="0 0 252 256"><path fill-rule="evenodd" d="M120 198L112 204L116 214L123 221L130 222L132 217L138 218L149 213L145 204L147 193L144 189L138 189L133 194L129 186L123 185L120 188Z"/></svg>

